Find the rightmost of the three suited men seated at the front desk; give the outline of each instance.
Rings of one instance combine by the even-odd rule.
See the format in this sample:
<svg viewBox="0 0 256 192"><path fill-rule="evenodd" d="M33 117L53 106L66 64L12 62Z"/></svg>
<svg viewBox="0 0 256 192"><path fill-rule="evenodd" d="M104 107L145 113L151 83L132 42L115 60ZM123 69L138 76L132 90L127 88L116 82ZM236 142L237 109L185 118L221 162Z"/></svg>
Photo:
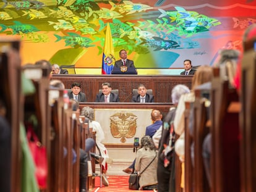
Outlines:
<svg viewBox="0 0 256 192"><path fill-rule="evenodd" d="M138 86L138 95L132 97L132 102L154 102L154 96L147 94L145 85Z"/></svg>

